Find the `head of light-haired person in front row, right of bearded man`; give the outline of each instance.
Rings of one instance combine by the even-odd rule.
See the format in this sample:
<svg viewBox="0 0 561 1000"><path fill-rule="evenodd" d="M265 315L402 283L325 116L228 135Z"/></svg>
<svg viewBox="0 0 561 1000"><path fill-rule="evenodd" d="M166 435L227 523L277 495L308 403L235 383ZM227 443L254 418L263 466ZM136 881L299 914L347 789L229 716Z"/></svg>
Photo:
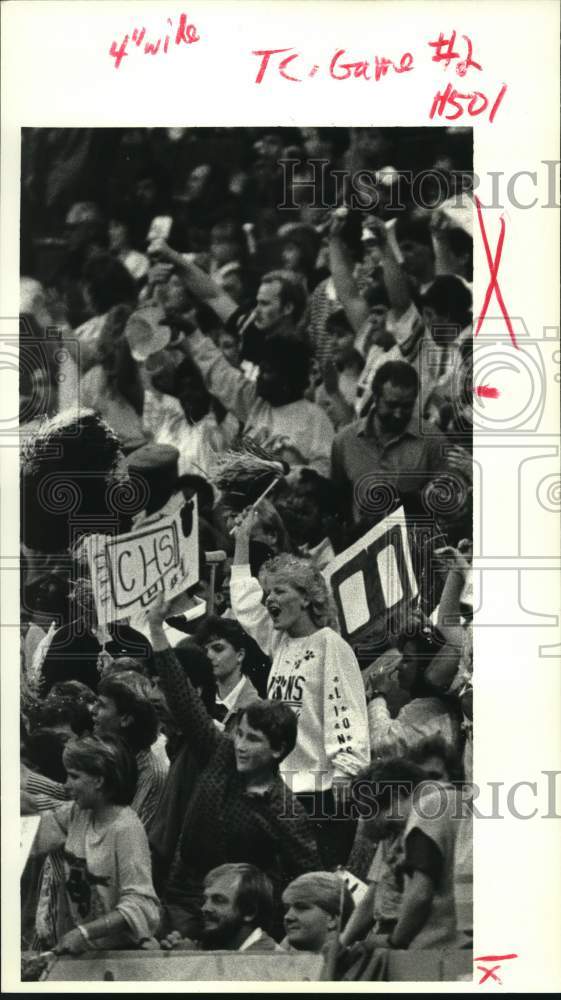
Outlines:
<svg viewBox="0 0 561 1000"><path fill-rule="evenodd" d="M307 872L284 890L286 951L325 953L353 912L352 896L333 872Z"/></svg>

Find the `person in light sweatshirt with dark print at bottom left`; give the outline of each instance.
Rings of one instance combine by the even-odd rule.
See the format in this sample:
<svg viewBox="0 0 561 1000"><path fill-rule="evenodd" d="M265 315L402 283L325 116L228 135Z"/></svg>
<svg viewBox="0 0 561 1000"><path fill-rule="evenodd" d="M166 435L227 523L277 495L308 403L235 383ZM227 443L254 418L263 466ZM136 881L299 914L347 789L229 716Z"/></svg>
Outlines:
<svg viewBox="0 0 561 1000"><path fill-rule="evenodd" d="M134 757L121 740L88 736L69 743L63 760L73 801L42 814L32 852L64 850L54 950L138 947L156 930L159 907L146 834L130 808Z"/></svg>

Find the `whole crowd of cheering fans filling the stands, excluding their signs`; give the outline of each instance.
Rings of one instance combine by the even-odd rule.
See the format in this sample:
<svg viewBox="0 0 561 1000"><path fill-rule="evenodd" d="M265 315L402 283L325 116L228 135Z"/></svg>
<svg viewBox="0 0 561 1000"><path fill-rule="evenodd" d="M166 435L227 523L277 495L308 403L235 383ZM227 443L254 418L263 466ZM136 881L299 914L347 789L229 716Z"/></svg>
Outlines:
<svg viewBox="0 0 561 1000"><path fill-rule="evenodd" d="M381 979L470 947L471 156L454 129L24 130L25 950ZM258 503L217 486L236 449L283 469ZM100 624L84 537L178 496L198 583ZM324 571L399 507L419 594L353 648Z"/></svg>

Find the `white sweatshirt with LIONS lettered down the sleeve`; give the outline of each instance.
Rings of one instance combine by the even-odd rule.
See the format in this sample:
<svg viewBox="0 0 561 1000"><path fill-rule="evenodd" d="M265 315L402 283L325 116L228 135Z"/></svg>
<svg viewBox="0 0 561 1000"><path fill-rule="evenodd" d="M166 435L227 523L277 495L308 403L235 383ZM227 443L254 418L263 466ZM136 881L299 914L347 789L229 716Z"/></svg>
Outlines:
<svg viewBox="0 0 561 1000"><path fill-rule="evenodd" d="M276 632L249 566L232 566L232 610L273 660L267 697L298 716L298 738L280 770L293 792L322 792L334 777L358 774L370 762L366 695L360 667L331 628L291 639Z"/></svg>

